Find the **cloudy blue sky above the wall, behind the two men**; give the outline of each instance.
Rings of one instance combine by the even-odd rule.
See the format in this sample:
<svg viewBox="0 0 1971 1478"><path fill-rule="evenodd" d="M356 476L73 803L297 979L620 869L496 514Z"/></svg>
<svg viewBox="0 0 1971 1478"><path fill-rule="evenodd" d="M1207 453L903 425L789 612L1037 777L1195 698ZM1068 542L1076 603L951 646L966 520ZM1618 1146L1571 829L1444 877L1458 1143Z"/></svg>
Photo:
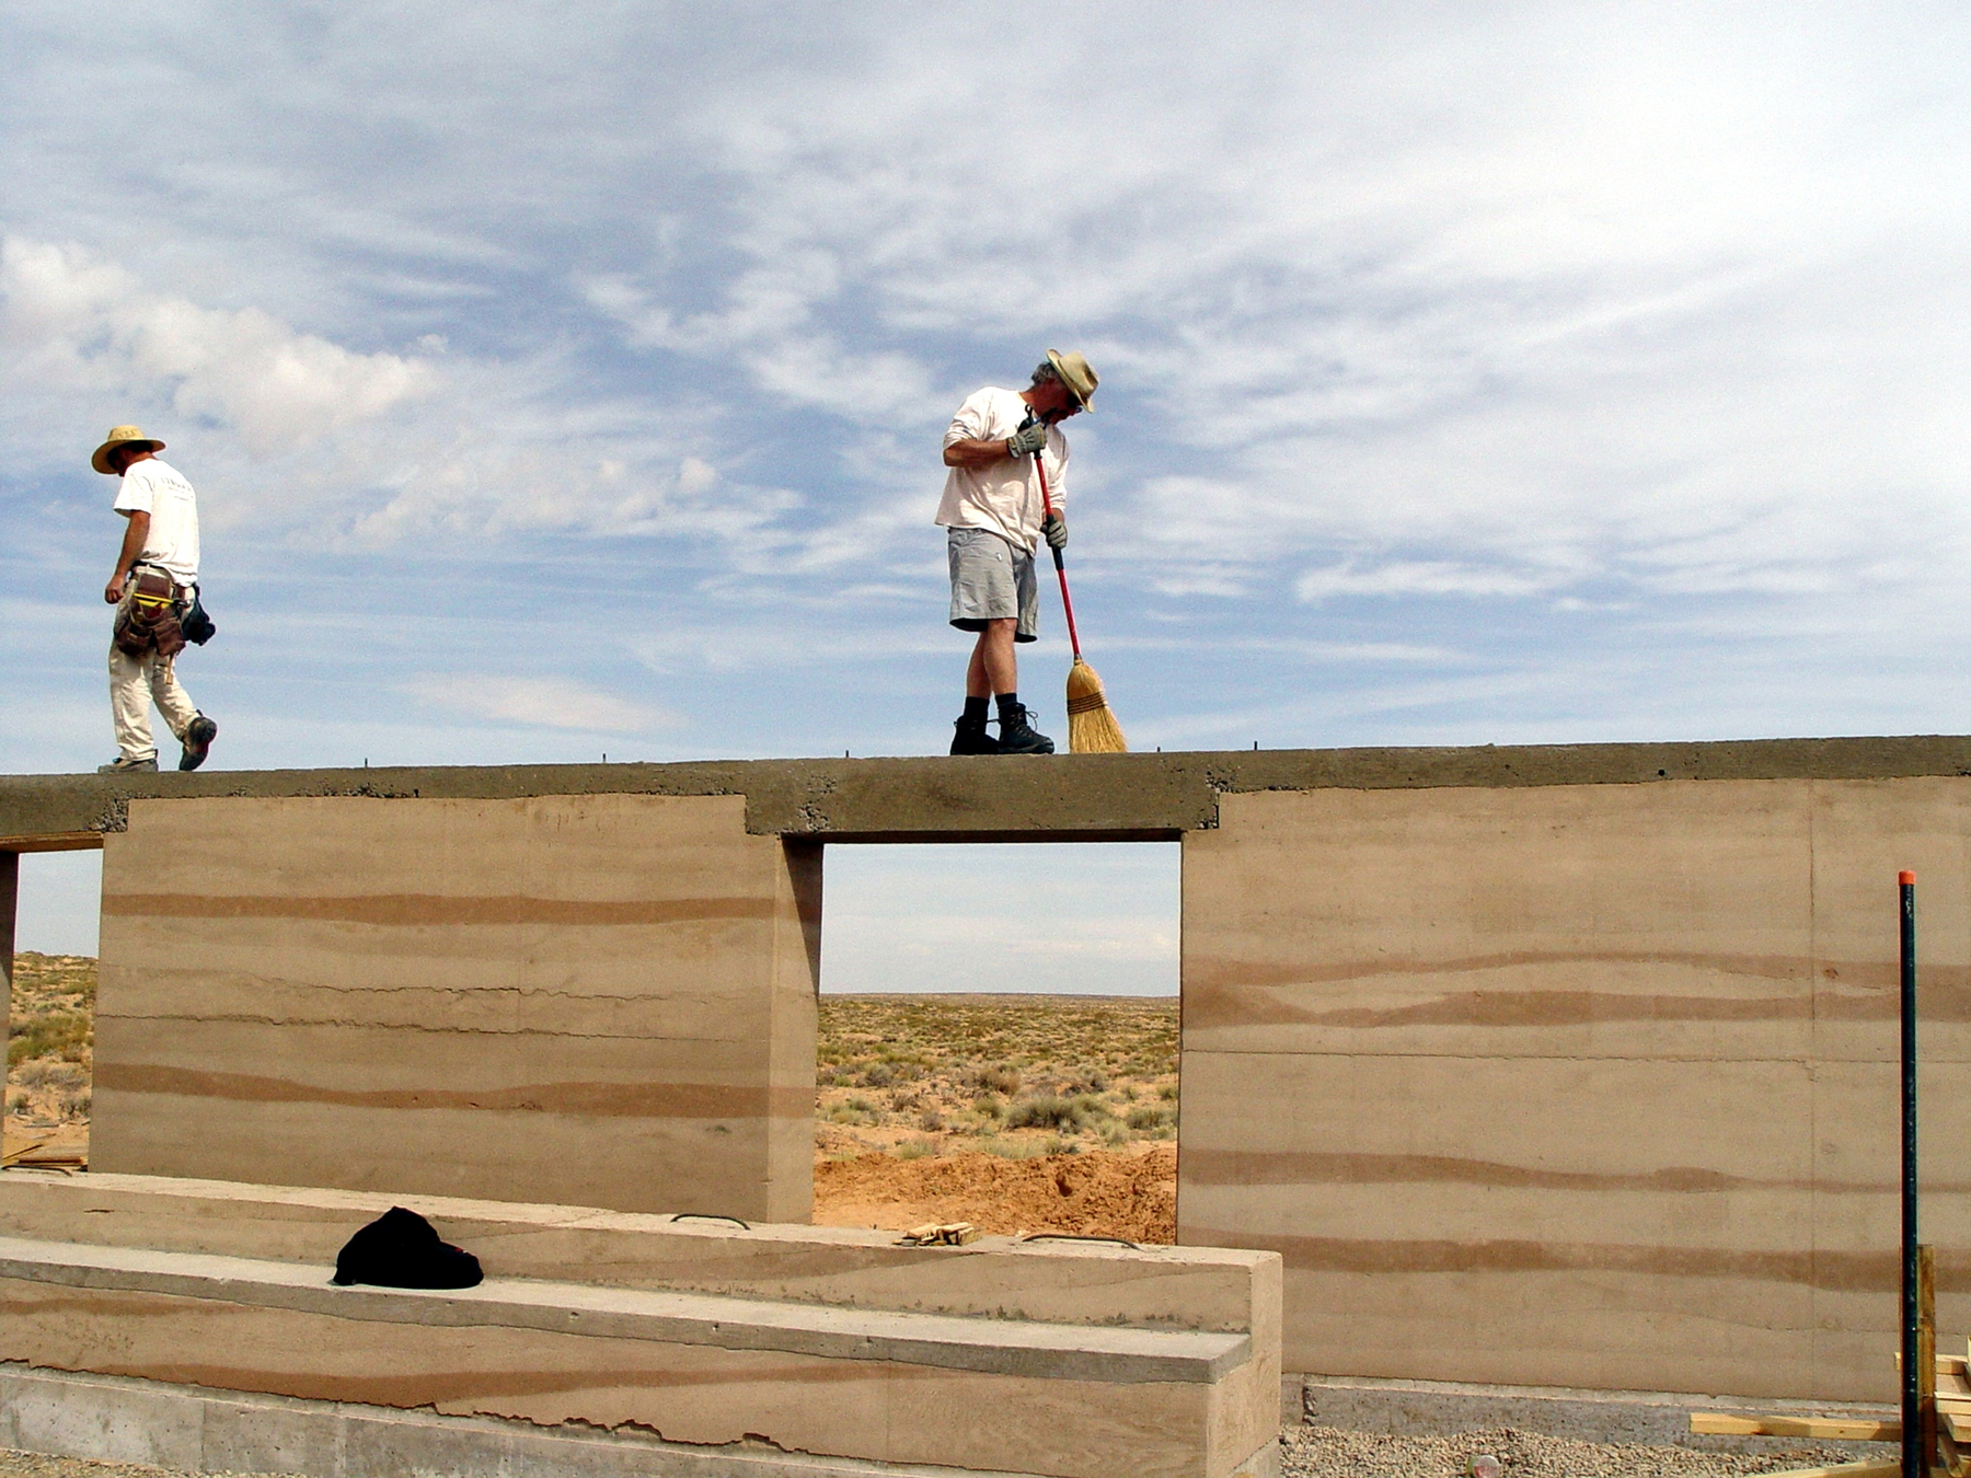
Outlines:
<svg viewBox="0 0 1971 1478"><path fill-rule="evenodd" d="M124 420L215 765L940 751L1047 347L1137 747L1963 729L1961 6L1039 20L0 8L0 765L110 755Z"/></svg>

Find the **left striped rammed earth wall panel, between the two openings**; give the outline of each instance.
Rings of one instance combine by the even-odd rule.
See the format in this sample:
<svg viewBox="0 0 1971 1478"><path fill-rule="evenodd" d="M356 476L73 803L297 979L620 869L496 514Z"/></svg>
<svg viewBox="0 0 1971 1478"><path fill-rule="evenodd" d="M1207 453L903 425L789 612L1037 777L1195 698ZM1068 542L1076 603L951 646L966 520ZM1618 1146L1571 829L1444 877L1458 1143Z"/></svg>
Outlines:
<svg viewBox="0 0 1971 1478"><path fill-rule="evenodd" d="M804 1220L818 924L737 796L140 800L91 1165Z"/></svg>

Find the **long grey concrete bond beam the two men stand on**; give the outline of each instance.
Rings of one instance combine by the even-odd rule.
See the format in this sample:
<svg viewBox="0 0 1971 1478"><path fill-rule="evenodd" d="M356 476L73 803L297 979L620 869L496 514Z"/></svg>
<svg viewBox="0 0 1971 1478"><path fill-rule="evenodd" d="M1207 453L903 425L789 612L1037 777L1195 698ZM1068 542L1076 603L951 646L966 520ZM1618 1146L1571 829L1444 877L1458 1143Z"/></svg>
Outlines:
<svg viewBox="0 0 1971 1478"><path fill-rule="evenodd" d="M211 796L741 796L745 830L836 841L1173 840L1216 826L1218 796L1660 780L1882 780L1971 774L1971 737L1658 745L1267 749L1151 755L773 759L676 765L445 765L195 774L0 776L0 851L101 845L136 800Z"/></svg>

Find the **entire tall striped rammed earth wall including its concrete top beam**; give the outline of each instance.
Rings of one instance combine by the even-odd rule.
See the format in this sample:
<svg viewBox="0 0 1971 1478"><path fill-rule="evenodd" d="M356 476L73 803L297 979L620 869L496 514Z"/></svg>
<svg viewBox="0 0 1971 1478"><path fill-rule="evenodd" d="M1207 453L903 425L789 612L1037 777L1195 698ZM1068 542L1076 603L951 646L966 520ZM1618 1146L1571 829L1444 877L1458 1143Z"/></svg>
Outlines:
<svg viewBox="0 0 1971 1478"><path fill-rule="evenodd" d="M1179 1236L1283 1253L1289 1370L1882 1399L1902 867L1971 1324L1965 776L1959 737L22 776L0 853L110 834L104 1169L798 1218L814 843L1181 840Z"/></svg>

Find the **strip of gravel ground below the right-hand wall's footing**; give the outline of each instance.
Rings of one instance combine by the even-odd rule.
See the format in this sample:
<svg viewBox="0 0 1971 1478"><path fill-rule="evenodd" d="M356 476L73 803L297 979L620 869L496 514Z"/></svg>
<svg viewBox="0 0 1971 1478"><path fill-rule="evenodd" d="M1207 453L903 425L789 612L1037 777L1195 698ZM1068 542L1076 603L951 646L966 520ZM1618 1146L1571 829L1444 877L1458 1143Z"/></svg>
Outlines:
<svg viewBox="0 0 1971 1478"><path fill-rule="evenodd" d="M1697 1452L1687 1446L1573 1443L1510 1427L1459 1437L1378 1437L1334 1427L1283 1433L1285 1478L1464 1478L1470 1460L1490 1452L1504 1478L1736 1478L1831 1462L1855 1452L1821 1443L1774 1443L1770 1452ZM1892 1446L1882 1454L1894 1454Z"/></svg>

